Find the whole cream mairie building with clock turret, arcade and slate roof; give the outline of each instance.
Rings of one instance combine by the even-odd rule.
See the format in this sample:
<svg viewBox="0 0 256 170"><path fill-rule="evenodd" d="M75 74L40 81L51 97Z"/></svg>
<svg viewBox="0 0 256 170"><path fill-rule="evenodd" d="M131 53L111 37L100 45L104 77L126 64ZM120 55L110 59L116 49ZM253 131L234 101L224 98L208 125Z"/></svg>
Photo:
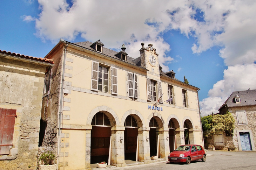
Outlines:
<svg viewBox="0 0 256 170"><path fill-rule="evenodd" d="M151 163L181 144L203 145L200 88L163 72L153 44L141 43L133 58L124 45L103 46L61 39L45 57L55 66L46 73L39 146L55 147L59 169Z"/></svg>

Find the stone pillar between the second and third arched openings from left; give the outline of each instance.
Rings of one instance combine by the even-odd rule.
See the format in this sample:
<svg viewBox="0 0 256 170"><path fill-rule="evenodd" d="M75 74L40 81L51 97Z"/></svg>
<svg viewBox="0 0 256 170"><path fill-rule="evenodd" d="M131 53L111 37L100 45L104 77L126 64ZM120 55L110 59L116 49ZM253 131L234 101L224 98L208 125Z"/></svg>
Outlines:
<svg viewBox="0 0 256 170"><path fill-rule="evenodd" d="M150 128L139 128L138 135L139 135L139 161L151 163L150 158L150 147L149 147L149 130Z"/></svg>

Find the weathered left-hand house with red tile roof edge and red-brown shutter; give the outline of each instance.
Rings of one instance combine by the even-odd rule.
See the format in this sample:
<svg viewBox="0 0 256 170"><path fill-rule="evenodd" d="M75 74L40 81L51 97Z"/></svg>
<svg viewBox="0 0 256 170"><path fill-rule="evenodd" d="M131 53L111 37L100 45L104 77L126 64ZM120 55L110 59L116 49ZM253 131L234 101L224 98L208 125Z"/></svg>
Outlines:
<svg viewBox="0 0 256 170"><path fill-rule="evenodd" d="M0 50L1 170L36 169L45 73L53 65Z"/></svg>

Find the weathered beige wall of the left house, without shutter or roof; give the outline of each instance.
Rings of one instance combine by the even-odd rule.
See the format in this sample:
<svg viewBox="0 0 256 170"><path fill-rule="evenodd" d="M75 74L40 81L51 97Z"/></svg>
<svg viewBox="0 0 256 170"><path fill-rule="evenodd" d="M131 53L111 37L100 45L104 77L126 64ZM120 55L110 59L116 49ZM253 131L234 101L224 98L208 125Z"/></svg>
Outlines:
<svg viewBox="0 0 256 170"><path fill-rule="evenodd" d="M0 169L35 170L46 66L0 57L0 107L17 110L11 154L0 155Z"/></svg>

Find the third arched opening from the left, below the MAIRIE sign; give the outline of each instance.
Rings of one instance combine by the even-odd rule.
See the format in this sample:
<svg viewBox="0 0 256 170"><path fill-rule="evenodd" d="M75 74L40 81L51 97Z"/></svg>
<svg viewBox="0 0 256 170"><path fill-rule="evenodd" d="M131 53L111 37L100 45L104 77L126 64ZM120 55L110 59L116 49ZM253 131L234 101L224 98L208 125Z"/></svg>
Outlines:
<svg viewBox="0 0 256 170"><path fill-rule="evenodd" d="M159 126L156 119L153 117L149 121L149 148L150 148L150 156L157 156L157 141L159 134Z"/></svg>

